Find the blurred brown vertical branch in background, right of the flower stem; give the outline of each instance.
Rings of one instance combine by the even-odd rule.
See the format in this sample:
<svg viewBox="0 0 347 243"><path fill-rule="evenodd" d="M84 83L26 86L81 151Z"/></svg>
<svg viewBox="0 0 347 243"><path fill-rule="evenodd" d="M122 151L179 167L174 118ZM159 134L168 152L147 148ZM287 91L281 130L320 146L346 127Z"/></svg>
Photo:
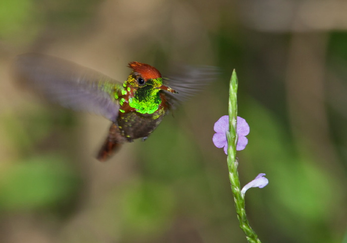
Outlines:
<svg viewBox="0 0 347 243"><path fill-rule="evenodd" d="M289 46L286 78L289 119L301 153L314 152L331 167L339 169L337 155L331 141L325 108L325 55L327 34L294 33Z"/></svg>

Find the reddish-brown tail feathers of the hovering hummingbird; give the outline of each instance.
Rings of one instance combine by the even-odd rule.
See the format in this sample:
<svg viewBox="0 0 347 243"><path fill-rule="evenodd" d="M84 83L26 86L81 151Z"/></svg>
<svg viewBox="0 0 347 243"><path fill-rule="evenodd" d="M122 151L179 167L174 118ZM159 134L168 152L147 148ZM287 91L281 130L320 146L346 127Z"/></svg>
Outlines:
<svg viewBox="0 0 347 243"><path fill-rule="evenodd" d="M101 147L97 159L101 162L107 161L119 150L125 138L120 134L119 128L115 123L112 123L109 135Z"/></svg>

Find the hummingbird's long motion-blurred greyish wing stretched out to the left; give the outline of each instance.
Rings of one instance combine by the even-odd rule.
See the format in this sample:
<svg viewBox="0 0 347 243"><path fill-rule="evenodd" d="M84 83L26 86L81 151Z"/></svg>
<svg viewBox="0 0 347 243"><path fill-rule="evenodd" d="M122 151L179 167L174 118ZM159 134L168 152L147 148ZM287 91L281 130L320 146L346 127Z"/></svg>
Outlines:
<svg viewBox="0 0 347 243"><path fill-rule="evenodd" d="M119 104L116 80L62 59L24 54L14 62L14 75L66 108L102 115L115 122Z"/></svg>

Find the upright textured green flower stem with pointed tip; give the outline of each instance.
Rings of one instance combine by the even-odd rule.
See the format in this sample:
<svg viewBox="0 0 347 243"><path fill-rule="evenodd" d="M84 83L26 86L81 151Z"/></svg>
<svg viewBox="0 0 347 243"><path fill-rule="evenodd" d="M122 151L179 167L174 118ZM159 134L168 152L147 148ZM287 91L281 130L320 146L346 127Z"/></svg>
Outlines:
<svg viewBox="0 0 347 243"><path fill-rule="evenodd" d="M238 179L237 166L238 161L236 158L236 121L237 121L237 76L235 70L233 70L230 80L229 91L229 132L227 132L228 139L228 169L229 179L231 182L231 191L235 202L235 209L237 213L238 221L240 222L240 228L246 235L246 239L249 243L260 243L257 234L249 226L249 222L246 217L244 195L241 194L240 180Z"/></svg>

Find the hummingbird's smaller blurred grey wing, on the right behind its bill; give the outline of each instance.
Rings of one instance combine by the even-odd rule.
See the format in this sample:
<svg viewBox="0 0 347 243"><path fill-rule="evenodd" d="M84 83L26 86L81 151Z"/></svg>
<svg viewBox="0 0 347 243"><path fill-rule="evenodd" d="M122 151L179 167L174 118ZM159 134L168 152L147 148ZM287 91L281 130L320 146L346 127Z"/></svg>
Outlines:
<svg viewBox="0 0 347 243"><path fill-rule="evenodd" d="M165 85L178 92L173 94L164 91L170 107L175 109L196 93L204 90L208 84L217 79L219 74L219 68L215 66L176 66L175 71L164 78Z"/></svg>

